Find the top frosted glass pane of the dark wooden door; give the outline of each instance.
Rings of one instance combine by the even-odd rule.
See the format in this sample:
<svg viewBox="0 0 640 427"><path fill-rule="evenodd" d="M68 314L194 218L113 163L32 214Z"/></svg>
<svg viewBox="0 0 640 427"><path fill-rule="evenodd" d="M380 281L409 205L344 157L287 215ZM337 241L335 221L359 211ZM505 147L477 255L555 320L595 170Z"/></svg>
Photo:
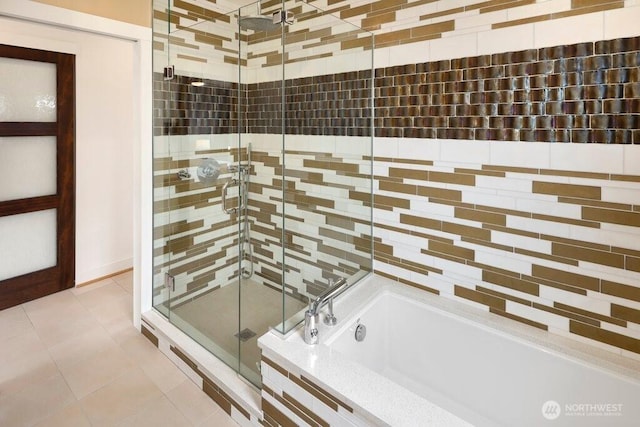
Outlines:
<svg viewBox="0 0 640 427"><path fill-rule="evenodd" d="M0 58L0 121L56 121L56 65Z"/></svg>

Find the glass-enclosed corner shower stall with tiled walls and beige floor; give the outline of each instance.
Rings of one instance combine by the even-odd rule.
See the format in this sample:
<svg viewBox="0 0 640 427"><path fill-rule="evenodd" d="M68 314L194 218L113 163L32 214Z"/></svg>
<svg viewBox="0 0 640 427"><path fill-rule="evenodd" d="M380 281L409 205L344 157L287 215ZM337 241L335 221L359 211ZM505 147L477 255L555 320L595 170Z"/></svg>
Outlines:
<svg viewBox="0 0 640 427"><path fill-rule="evenodd" d="M259 387L257 338L372 271L373 36L204 3L154 0L153 306Z"/></svg>

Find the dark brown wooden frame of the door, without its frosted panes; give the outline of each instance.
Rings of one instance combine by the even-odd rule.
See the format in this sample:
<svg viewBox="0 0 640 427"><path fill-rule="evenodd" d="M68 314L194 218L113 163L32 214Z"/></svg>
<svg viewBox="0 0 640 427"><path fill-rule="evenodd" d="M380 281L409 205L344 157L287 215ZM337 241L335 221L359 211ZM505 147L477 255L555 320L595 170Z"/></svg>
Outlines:
<svg viewBox="0 0 640 427"><path fill-rule="evenodd" d="M56 194L0 202L0 216L56 209L54 267L0 281L0 309L75 285L75 55L0 44L0 57L56 65L56 121L0 122L0 136L56 137ZM10 294L10 295L8 295Z"/></svg>

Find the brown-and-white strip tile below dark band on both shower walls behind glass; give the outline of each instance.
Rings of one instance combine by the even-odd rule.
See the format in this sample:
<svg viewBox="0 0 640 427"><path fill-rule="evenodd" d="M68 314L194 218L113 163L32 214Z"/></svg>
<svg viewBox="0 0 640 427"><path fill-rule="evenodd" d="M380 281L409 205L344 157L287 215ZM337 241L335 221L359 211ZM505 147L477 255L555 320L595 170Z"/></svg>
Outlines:
<svg viewBox="0 0 640 427"><path fill-rule="evenodd" d="M222 186L232 176L222 174L214 183L195 179L202 158L221 163L238 160L238 151L229 152L227 147L237 146L237 141L219 138L156 137L156 300L168 298L163 272L169 268L176 277L174 304L237 279L241 218L221 209ZM248 211L253 280L275 289L281 289L284 281L287 293L306 302L329 279L371 271L371 160L360 152L370 153L369 138L350 141L345 150L323 137L309 142L308 137L292 136L285 151L284 180L281 137L246 134L244 138L255 141ZM203 141L212 148L198 150ZM161 157L163 145L166 155ZM180 149L170 153L170 145ZM242 156L246 159L244 151ZM179 179L182 169L193 178Z"/></svg>

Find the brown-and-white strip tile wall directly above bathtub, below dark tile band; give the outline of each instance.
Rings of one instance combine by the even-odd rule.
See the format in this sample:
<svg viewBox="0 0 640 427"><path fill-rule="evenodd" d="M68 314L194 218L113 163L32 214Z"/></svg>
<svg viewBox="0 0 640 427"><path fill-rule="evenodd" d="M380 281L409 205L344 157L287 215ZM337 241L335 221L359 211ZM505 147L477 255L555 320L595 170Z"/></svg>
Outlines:
<svg viewBox="0 0 640 427"><path fill-rule="evenodd" d="M640 355L635 146L378 138L376 271Z"/></svg>

